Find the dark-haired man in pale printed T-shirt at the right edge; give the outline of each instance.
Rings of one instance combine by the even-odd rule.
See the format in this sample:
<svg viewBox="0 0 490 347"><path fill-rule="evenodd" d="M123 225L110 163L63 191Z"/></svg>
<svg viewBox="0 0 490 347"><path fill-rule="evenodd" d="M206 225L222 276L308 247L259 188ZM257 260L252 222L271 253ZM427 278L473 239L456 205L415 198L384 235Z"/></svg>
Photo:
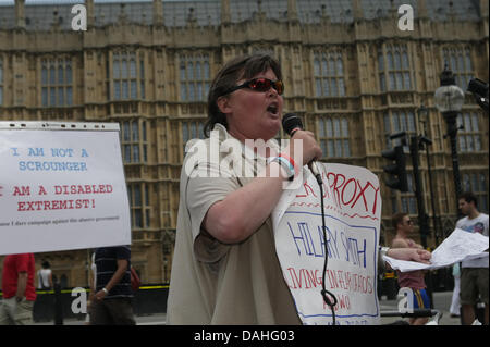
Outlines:
<svg viewBox="0 0 490 347"><path fill-rule="evenodd" d="M473 193L463 193L458 197L461 213L465 215L456 222L456 227L468 233L480 233L488 237L488 214L478 211L478 200ZM485 323L488 325L488 251L485 257L463 260L461 267L460 298L463 311L463 324L475 321L475 307L478 298L485 303ZM479 296L479 297L478 297Z"/></svg>

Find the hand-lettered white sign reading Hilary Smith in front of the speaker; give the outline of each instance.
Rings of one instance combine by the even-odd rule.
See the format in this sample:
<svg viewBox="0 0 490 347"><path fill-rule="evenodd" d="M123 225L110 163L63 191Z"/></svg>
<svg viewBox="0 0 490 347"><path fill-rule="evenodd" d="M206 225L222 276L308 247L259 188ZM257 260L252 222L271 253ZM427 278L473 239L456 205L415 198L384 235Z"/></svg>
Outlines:
<svg viewBox="0 0 490 347"><path fill-rule="evenodd" d="M338 324L378 324L378 243L381 196L378 177L364 168L323 164L328 267L326 289L338 299ZM320 189L313 175L285 190L272 213L282 273L304 324L331 324L321 296L324 243Z"/></svg>

